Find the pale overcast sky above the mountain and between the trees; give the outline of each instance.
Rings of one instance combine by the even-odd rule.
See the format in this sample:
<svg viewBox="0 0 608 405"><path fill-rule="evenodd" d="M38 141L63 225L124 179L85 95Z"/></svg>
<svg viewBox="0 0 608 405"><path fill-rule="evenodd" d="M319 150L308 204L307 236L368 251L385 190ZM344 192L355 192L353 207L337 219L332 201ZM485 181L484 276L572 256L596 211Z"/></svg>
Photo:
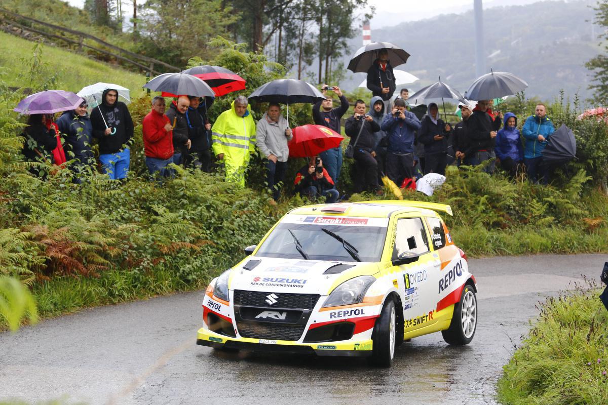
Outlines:
<svg viewBox="0 0 608 405"><path fill-rule="evenodd" d="M69 4L82 8L85 0L67 0ZM500 5L530 4L547 0L484 0L483 7L496 7ZM131 16L129 1L125 1L123 12L128 19ZM371 20L371 30L385 26L396 26L403 21L417 21L431 18L444 13L463 13L473 8L473 0L401 0L398 2L387 0L368 0L370 5L376 7L376 16ZM595 3L595 0L589 0ZM403 10L399 12L399 10Z"/></svg>

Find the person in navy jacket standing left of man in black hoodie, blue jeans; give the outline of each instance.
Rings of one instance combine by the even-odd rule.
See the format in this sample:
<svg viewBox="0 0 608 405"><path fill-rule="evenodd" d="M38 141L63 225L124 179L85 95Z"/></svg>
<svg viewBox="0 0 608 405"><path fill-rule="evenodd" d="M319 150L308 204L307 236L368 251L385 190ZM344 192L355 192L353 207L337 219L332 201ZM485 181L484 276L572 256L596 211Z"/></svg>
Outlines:
<svg viewBox="0 0 608 405"><path fill-rule="evenodd" d="M59 131L65 135L67 160L74 159L70 169L74 172L74 183L81 183L78 174L83 172L87 166L91 167L95 163L93 152L91 152L91 141L93 127L91 118L86 112L88 104L82 100L80 106L74 111L66 111L55 122Z"/></svg>

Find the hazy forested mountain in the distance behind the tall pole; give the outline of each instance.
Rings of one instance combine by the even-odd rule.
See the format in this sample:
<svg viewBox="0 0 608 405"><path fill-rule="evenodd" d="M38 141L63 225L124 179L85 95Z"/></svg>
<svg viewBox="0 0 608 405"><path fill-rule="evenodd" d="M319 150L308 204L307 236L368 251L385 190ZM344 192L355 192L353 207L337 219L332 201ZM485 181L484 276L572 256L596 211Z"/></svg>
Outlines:
<svg viewBox="0 0 608 405"><path fill-rule="evenodd" d="M587 1L548 1L484 10L486 66L511 72L527 81L528 97L550 100L564 89L567 95L591 96L589 71L584 63L600 50L592 38L593 9ZM595 36L599 27L595 27ZM441 15L374 29L373 41L389 41L410 53L399 69L421 80L405 87L418 90L441 80L464 92L475 80L475 25L473 12ZM351 40L351 54L361 38ZM345 58L348 64L350 56ZM365 73L349 72L341 86L352 90ZM411 94L411 91L410 91Z"/></svg>

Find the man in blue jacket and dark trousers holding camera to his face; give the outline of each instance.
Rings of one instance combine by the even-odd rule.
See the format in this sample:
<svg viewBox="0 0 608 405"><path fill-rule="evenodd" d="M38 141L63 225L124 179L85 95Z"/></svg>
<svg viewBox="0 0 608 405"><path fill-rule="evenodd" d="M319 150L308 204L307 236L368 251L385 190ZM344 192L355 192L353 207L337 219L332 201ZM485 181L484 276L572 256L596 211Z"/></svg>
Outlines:
<svg viewBox="0 0 608 405"><path fill-rule="evenodd" d="M395 100L391 114L382 121L382 131L387 133L386 171L389 179L400 186L406 177L413 177L414 132L420 129L420 120L413 112L406 110L406 101Z"/></svg>

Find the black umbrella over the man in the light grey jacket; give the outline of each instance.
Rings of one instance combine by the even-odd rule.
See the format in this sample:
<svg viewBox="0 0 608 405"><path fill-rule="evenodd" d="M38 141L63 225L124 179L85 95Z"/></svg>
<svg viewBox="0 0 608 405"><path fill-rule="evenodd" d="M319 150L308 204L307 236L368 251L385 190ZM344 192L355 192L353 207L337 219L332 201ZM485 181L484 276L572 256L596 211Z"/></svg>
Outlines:
<svg viewBox="0 0 608 405"><path fill-rule="evenodd" d="M277 79L262 84L247 97L260 103L287 104L289 121L289 104L311 103L325 100L325 96L310 83L297 79Z"/></svg>

